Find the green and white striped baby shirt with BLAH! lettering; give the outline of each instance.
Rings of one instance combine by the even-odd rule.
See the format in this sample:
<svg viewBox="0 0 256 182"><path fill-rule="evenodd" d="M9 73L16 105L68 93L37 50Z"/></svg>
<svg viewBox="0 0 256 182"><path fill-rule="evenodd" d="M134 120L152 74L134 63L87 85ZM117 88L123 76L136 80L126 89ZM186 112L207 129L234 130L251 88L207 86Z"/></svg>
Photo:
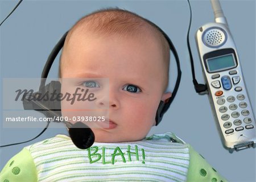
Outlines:
<svg viewBox="0 0 256 182"><path fill-rule="evenodd" d="M85 150L77 148L66 135L56 135L25 147L22 156L14 156L6 166L9 164L10 168L13 162L14 167L18 158L23 158L19 162L23 167L16 171L29 171L24 181L189 181L195 176L206 179L210 173L210 180L215 175L220 181L216 171L209 172L209 164L205 171L198 168L196 175L189 176L189 168L196 167L191 164L191 150L189 144L172 133L155 134L137 142L94 142ZM30 160L26 166L24 158ZM204 160L199 155L197 158ZM6 170L1 172L6 175L1 181L11 178Z"/></svg>

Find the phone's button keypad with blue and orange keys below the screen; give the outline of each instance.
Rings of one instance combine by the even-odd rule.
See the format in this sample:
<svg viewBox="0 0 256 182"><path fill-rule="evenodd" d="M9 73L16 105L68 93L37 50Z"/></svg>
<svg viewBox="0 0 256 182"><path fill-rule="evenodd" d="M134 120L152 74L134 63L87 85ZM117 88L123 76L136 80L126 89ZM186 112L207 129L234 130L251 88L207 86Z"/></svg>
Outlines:
<svg viewBox="0 0 256 182"><path fill-rule="evenodd" d="M226 129L225 134L232 134L234 133L234 130L242 131L254 128L254 125L251 125L253 119L250 117L250 111L247 110L247 101L244 101L245 95L241 92L243 88L239 85L241 77L236 74L237 71L233 70L229 72L230 77L222 76L219 78L219 74L212 75L212 79L218 78L211 82L211 86L213 86L213 88L231 90L234 86L233 90L237 93L236 95L227 96L226 98L226 94L223 93L224 91L222 90L217 90L214 93L217 97L217 105L219 105L218 111L222 114L222 126ZM233 129L231 128L232 126Z"/></svg>

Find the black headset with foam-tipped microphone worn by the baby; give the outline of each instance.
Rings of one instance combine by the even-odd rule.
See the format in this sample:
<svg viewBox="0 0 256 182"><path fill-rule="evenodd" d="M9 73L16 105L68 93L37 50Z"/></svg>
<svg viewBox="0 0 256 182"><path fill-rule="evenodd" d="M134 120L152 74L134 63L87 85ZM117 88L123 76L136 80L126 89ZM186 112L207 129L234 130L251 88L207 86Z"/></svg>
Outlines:
<svg viewBox="0 0 256 182"><path fill-rule="evenodd" d="M142 18L142 17L141 17ZM167 34L156 24L152 23L150 20L144 19L147 23L151 24L151 26L155 27L158 31L161 32L161 34L164 36L164 38L167 40L168 45L170 47L171 52L173 53L175 60L176 60L176 65L177 65L177 78L176 78L176 83L174 90L172 91L172 96L167 100L167 102L160 101L158 110L156 111L156 116L155 116L155 121L156 121L156 126L162 121L164 113L168 110L170 107L172 101L174 100L177 90L179 88L180 80L181 80L181 70L180 70L180 61L179 61L179 56L177 55L177 51L174 47L174 44L172 44L171 39L167 36ZM50 55L48 56L48 59L46 61L46 64L44 65L44 69L42 72L41 76L41 82L40 82L40 87L39 91L31 94L31 93L25 93L23 96L23 107L25 110L37 110L40 111L40 113L43 113L46 115L46 117L51 117L55 118L55 116L60 117L61 116L61 106L60 106L60 100L41 100L38 101L35 98L39 96L38 93L41 95L44 95L45 93L48 94L53 94L55 93L60 93L60 88L61 84L59 81L51 81L49 84L46 85L46 79L49 73L49 70L51 69L52 63L55 60L56 56L59 54L61 48L64 46L65 38L67 36L68 32L66 32L59 42L56 44L56 46L52 49ZM53 121L57 122L57 121ZM92 130L84 125L84 123L81 122L76 122L74 125L66 122L66 121L61 121L64 122L65 125L69 129L69 135L73 141L73 143L78 147L78 148L89 148L92 146L94 142L94 134ZM49 122L47 123L46 128L35 138L38 138L48 127ZM34 140L35 138L31 139ZM30 142L31 140L28 140L26 142ZM20 143L26 143L26 142L20 142ZM14 144L20 144L20 143L14 143ZM5 146L1 147L6 147L6 146L11 146L14 144L8 144Z"/></svg>

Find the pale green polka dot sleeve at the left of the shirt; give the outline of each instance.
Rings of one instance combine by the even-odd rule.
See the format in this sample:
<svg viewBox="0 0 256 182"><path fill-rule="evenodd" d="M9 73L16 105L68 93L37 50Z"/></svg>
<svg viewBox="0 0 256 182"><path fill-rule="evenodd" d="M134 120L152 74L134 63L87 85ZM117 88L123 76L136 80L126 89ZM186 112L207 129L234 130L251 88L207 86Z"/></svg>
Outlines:
<svg viewBox="0 0 256 182"><path fill-rule="evenodd" d="M0 181L38 181L35 163L27 148L23 148L7 162L0 173Z"/></svg>

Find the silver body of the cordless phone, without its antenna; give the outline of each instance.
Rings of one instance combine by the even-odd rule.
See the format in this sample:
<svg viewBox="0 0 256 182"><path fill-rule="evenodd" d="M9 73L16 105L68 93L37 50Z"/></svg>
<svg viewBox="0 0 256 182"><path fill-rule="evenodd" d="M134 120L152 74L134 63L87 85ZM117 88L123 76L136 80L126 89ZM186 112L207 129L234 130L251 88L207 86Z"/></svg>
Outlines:
<svg viewBox="0 0 256 182"><path fill-rule="evenodd" d="M255 117L229 28L222 23L205 24L196 32L196 43L210 105L224 146L230 152L255 147Z"/></svg>

